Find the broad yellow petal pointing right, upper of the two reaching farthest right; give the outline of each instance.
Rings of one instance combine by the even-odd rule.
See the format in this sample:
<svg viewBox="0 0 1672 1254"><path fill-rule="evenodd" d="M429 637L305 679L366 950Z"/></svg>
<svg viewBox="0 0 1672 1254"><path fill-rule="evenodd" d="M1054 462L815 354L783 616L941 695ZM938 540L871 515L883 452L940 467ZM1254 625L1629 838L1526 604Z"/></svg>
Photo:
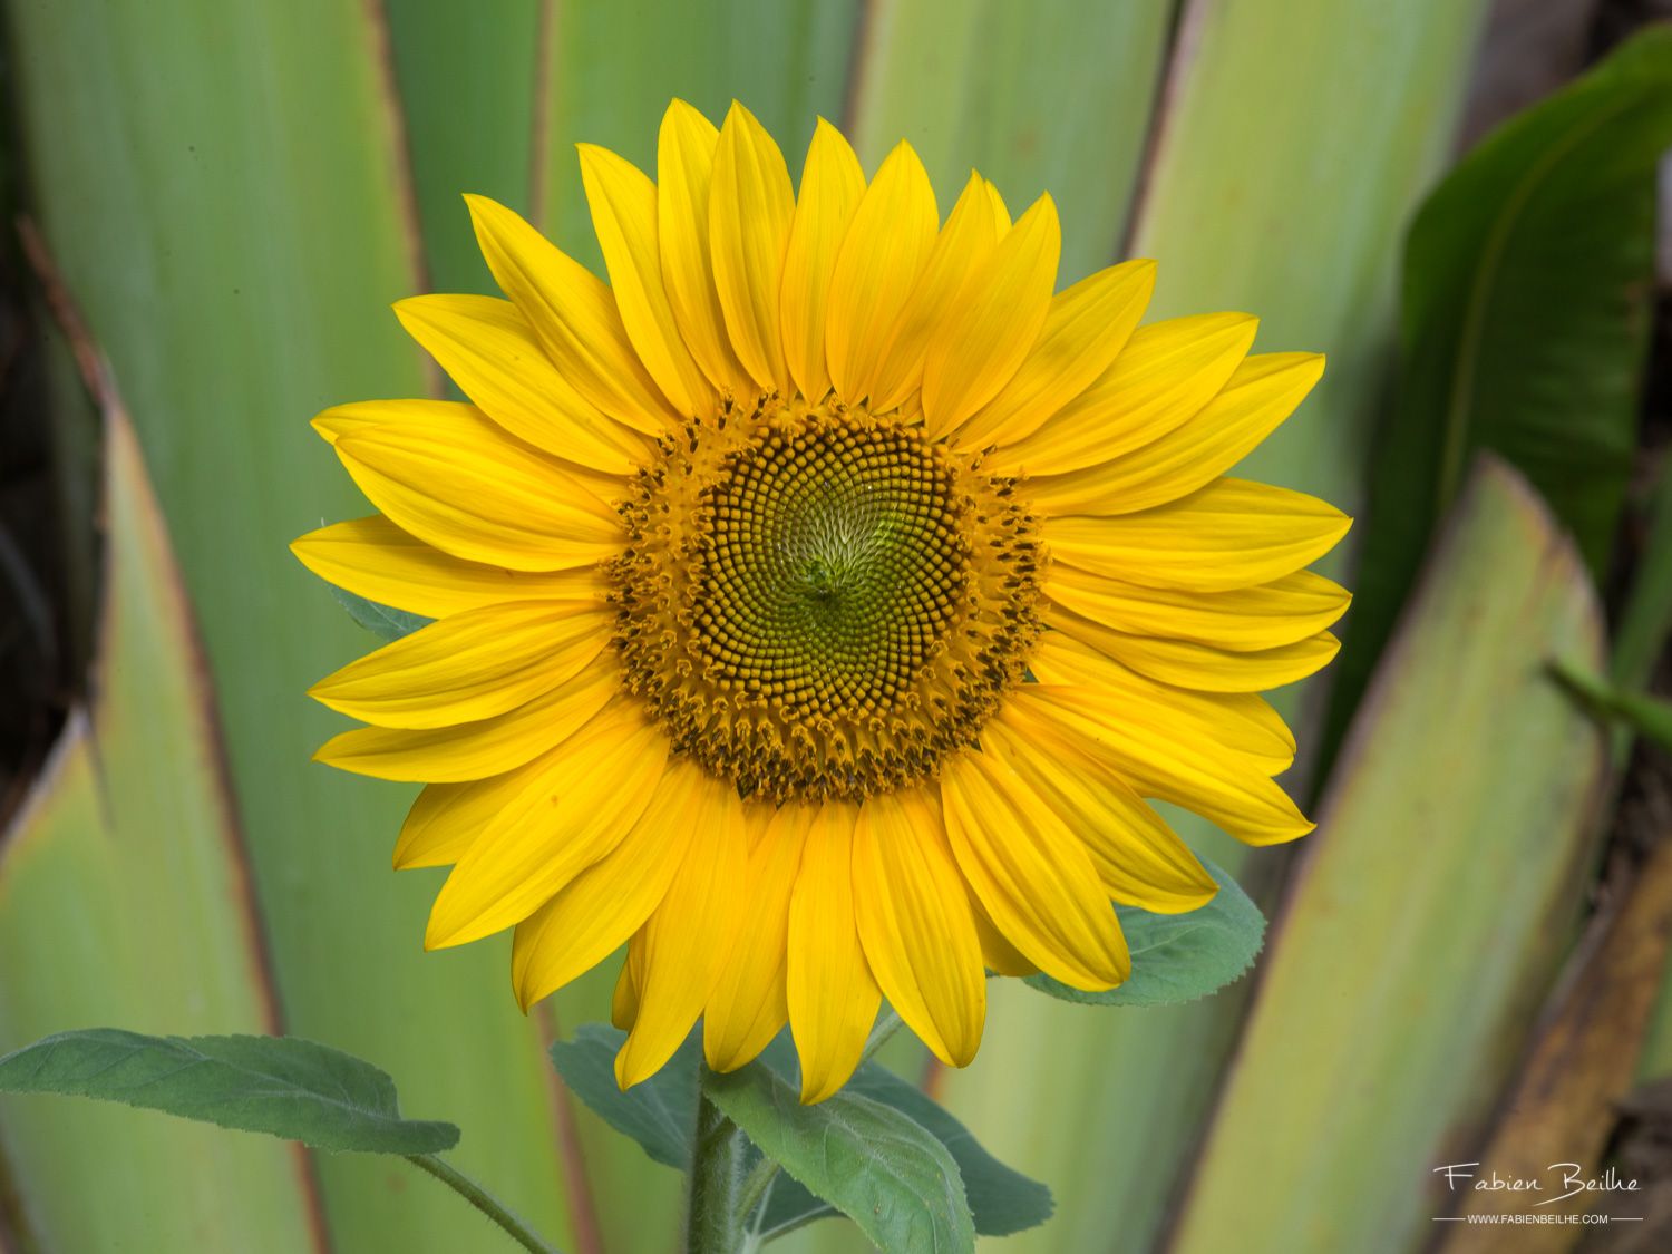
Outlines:
<svg viewBox="0 0 1672 1254"><path fill-rule="evenodd" d="M1105 579L1227 592L1316 562L1351 525L1316 497L1222 478L1142 513L1053 517L1045 540L1057 562Z"/></svg>

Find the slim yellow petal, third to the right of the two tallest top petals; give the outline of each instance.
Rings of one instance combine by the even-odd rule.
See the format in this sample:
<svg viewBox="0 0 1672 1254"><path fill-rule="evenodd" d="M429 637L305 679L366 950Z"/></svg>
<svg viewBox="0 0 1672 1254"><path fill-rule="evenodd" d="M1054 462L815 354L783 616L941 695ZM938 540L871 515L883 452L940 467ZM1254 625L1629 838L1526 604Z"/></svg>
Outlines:
<svg viewBox="0 0 1672 1254"><path fill-rule="evenodd" d="M980 174L971 174L935 239L918 286L911 289L911 298L895 323L876 373L873 411L891 410L923 386L923 358L928 354L930 338L973 289L973 281L998 247L1003 229L986 184Z"/></svg>

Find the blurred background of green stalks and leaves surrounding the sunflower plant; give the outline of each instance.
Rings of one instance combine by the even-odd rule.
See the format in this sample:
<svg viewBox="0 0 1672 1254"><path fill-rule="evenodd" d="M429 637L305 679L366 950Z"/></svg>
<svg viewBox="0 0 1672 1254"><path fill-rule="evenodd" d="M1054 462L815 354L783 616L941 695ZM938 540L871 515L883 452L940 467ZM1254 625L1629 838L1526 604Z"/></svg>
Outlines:
<svg viewBox="0 0 1672 1254"><path fill-rule="evenodd" d="M1672 142L1664 0L5 0L0 1052L289 1032L363 1055L565 1251L670 1249L679 1179L557 1087L614 970L518 1013L421 951L410 791L309 764L370 640L286 552L368 512L321 408L441 386L388 304L490 291L460 192L600 268L577 140L681 95L793 171L814 119L1050 191L1063 283L1329 354L1252 478L1359 518L1346 649L1279 694L1319 831L1180 818L1272 931L1197 1005L993 988L893 1063L1052 1185L1022 1251L1672 1249ZM1562 662L1588 689L1558 686ZM1649 736L1637 736L1647 731ZM1435 1169L1613 1165L1622 1222L1476 1227ZM1485 1169L1483 1169L1485 1170ZM1630 1221L1630 1222L1627 1222ZM405 1164L0 1100L0 1251L498 1249ZM500 1242L503 1244L503 1242ZM784 1249L858 1249L839 1224ZM997 1242L995 1242L995 1247Z"/></svg>

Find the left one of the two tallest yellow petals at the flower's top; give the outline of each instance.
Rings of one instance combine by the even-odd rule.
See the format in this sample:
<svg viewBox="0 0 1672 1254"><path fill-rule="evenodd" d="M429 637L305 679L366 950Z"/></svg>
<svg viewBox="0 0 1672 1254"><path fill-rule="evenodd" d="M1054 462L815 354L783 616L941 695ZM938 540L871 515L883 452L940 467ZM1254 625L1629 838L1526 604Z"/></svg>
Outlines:
<svg viewBox="0 0 1672 1254"><path fill-rule="evenodd" d="M726 334L709 259L709 196L719 130L684 100L662 115L655 147L655 226L662 281L681 336L721 391L741 391L749 376Z"/></svg>

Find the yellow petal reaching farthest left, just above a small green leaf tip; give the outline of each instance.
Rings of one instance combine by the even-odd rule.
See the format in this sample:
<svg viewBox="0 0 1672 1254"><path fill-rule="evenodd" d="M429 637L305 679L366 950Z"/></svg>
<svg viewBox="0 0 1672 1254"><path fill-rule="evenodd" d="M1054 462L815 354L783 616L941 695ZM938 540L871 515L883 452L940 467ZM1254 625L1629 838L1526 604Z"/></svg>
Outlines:
<svg viewBox="0 0 1672 1254"><path fill-rule="evenodd" d="M309 532L291 552L339 589L426 619L507 600L604 600L609 592L595 567L530 573L465 562L380 513Z"/></svg>

